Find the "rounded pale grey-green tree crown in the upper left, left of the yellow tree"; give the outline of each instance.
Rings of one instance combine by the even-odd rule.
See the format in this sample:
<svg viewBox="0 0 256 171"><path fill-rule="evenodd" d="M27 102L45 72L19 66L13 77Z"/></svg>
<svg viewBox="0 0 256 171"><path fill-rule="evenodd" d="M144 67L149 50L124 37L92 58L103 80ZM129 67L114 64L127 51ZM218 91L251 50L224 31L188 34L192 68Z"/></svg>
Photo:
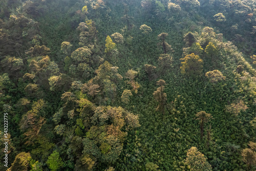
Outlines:
<svg viewBox="0 0 256 171"><path fill-rule="evenodd" d="M71 54L71 58L78 62L88 62L92 52L88 47L78 48Z"/></svg>

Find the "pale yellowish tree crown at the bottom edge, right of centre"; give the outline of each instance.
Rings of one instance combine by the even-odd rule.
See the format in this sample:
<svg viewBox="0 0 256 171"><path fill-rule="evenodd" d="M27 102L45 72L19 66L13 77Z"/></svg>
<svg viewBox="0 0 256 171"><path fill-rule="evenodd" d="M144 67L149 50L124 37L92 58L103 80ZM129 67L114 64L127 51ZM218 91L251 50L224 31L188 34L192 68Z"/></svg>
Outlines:
<svg viewBox="0 0 256 171"><path fill-rule="evenodd" d="M190 167L190 170L195 171L210 171L211 165L207 162L207 158L198 151L197 147L191 147L187 151L185 164Z"/></svg>

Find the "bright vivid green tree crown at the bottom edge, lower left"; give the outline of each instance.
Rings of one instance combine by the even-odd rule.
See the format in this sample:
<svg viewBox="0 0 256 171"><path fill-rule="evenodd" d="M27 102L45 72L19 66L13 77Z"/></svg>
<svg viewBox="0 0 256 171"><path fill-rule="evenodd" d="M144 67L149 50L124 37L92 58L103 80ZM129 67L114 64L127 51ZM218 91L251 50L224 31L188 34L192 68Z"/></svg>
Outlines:
<svg viewBox="0 0 256 171"><path fill-rule="evenodd" d="M57 151L54 151L48 157L47 165L49 166L51 171L57 171L64 165L64 162L62 161L61 157L59 156L59 153Z"/></svg>

